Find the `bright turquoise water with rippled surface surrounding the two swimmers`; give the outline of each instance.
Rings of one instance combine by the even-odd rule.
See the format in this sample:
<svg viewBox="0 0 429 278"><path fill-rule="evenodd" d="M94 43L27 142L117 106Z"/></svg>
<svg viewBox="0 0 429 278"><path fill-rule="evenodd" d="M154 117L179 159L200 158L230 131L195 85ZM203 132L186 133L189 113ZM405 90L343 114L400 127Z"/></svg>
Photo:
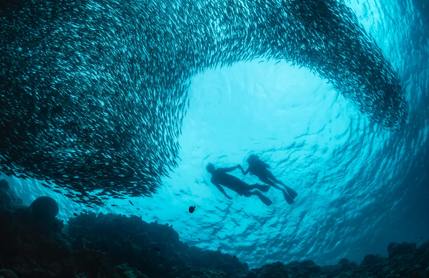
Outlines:
<svg viewBox="0 0 429 278"><path fill-rule="evenodd" d="M390 59L405 88L409 118L390 132L371 123L326 80L308 69L265 57L210 69L191 80L178 168L154 198L112 199L96 212L142 215L173 224L183 241L235 254L250 267L280 260L360 262L387 255L389 242L429 236L429 5L424 2L346 1ZM261 62L262 61L262 62ZM276 64L277 63L277 64ZM226 199L205 171L247 168L258 154L299 196L288 205L279 190L256 197L227 191ZM258 180L243 177L248 183ZM80 207L34 180L8 178L30 203L52 196L66 219ZM111 204L119 205L111 207ZM193 214L187 212L196 205ZM140 208L137 210L136 208Z"/></svg>

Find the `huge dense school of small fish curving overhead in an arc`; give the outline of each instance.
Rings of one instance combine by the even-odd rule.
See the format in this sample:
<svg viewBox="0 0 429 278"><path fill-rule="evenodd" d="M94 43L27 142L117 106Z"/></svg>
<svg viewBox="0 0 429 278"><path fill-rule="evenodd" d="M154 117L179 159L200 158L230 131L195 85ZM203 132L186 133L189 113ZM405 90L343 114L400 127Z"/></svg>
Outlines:
<svg viewBox="0 0 429 278"><path fill-rule="evenodd" d="M406 117L389 61L335 0L10 0L0 17L0 170L88 205L156 192L206 69L291 61L388 130Z"/></svg>

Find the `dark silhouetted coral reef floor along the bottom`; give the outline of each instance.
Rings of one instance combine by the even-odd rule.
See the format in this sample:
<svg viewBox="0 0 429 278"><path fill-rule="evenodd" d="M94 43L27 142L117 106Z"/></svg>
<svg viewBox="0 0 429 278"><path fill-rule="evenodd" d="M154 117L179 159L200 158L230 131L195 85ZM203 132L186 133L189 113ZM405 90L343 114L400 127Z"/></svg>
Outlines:
<svg viewBox="0 0 429 278"><path fill-rule="evenodd" d="M236 256L179 240L171 225L81 213L64 224L49 198L24 205L0 181L0 278L429 278L429 242L390 243L357 264L311 260L249 269Z"/></svg>

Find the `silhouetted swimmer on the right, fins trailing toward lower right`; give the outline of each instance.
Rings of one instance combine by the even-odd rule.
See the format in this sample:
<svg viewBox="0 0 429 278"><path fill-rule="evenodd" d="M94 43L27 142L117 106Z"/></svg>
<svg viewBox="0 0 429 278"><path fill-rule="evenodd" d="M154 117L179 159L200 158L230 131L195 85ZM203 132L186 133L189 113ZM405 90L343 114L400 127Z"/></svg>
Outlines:
<svg viewBox="0 0 429 278"><path fill-rule="evenodd" d="M241 165L237 165L237 167L242 170L243 175L247 175L248 172L250 172L251 175L256 175L260 181L265 182L266 184L269 184L278 190L281 190L283 192L284 199L288 204L293 203L293 199L295 199L298 194L295 192L295 190L275 178L272 172L268 170L270 166L267 163L260 160L259 157L255 154L249 156L247 162L249 163L249 168L246 171ZM277 184L283 185L286 190L279 187Z"/></svg>

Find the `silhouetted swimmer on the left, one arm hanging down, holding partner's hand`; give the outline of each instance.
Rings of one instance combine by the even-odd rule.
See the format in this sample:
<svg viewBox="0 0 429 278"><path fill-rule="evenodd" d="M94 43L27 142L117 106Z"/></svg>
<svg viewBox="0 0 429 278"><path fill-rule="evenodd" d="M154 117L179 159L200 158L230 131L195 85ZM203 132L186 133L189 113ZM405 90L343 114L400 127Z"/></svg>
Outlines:
<svg viewBox="0 0 429 278"><path fill-rule="evenodd" d="M211 183L214 184L219 189L219 191L221 191L228 199L233 199L233 198L228 196L228 194L225 192L224 188L221 187L221 185L237 192L240 196L245 196L245 197L250 197L252 195L258 196L259 199L265 205L271 205L272 201L268 199L266 196L263 196L262 193L260 193L258 190L250 191L252 189L259 189L263 192L267 192L269 190L268 185L263 185L263 184L250 185L233 175L227 174L227 172L232 172L239 167L241 166L237 165L235 167L215 169L215 166L213 164L208 164L206 169L207 169L207 172L211 174L211 179L210 179Z"/></svg>

